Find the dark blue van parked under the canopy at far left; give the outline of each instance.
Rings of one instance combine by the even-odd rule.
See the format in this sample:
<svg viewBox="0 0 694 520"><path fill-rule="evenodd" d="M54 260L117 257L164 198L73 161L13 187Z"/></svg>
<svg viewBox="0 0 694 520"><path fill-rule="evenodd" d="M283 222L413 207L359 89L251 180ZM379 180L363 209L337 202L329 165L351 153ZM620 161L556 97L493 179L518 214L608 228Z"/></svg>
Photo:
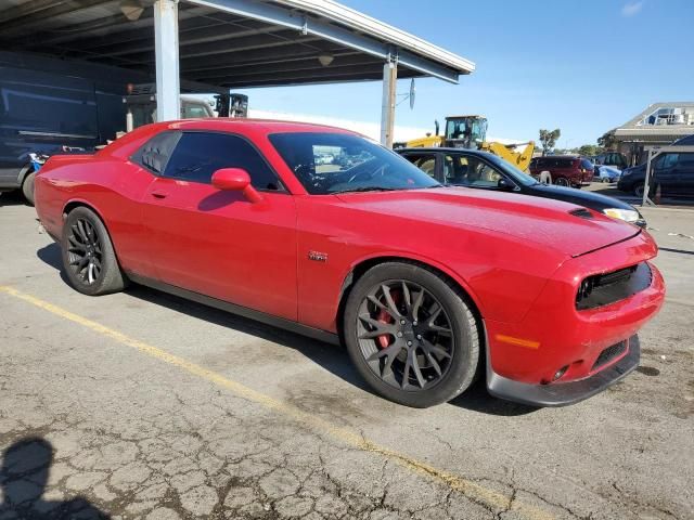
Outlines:
<svg viewBox="0 0 694 520"><path fill-rule="evenodd" d="M29 154L115 139L127 81L112 67L0 51L0 192L22 190L33 204Z"/></svg>

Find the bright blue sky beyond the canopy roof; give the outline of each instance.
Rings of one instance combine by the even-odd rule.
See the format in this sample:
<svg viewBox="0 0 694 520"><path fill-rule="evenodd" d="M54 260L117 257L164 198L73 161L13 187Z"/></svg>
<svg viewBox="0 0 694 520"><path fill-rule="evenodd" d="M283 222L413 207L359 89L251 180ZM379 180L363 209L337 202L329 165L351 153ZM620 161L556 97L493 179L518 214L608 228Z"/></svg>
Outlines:
<svg viewBox="0 0 694 520"><path fill-rule="evenodd" d="M342 0L476 64L459 84L416 79L398 126L481 114L488 134L594 144L658 101L694 101L694 0ZM407 93L409 79L398 81ZM252 108L381 120L380 81L243 90ZM397 135L396 135L397 139Z"/></svg>

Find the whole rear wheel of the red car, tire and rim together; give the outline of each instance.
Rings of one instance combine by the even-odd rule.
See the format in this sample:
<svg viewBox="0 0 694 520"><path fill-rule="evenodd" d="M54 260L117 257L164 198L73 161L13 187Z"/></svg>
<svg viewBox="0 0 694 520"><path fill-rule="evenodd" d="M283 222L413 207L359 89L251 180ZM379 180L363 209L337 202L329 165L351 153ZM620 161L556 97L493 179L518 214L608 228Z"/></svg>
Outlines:
<svg viewBox="0 0 694 520"><path fill-rule="evenodd" d="M127 278L118 265L106 226L92 210L78 207L69 212L61 247L63 269L79 292L100 296L126 287Z"/></svg>

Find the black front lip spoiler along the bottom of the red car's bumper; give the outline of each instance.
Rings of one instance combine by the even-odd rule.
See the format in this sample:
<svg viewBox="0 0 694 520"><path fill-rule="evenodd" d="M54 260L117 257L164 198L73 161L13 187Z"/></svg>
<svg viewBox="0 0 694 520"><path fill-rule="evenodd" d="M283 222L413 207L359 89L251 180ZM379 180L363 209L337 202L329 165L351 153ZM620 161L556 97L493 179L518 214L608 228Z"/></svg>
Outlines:
<svg viewBox="0 0 694 520"><path fill-rule="evenodd" d="M596 393L625 378L639 366L641 344L639 336L628 340L628 351L619 361L586 379L551 385L530 385L496 374L487 363L487 388L496 398L532 406L566 406Z"/></svg>

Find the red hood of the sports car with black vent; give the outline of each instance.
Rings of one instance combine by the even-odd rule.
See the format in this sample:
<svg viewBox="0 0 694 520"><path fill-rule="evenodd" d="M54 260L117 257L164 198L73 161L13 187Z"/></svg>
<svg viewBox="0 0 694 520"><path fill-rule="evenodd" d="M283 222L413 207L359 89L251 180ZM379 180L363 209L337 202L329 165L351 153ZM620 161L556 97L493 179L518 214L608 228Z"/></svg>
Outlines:
<svg viewBox="0 0 694 520"><path fill-rule="evenodd" d="M626 222L561 200L465 187L336 195L349 207L460 229L480 229L577 257L641 232ZM587 214L589 213L589 214Z"/></svg>

